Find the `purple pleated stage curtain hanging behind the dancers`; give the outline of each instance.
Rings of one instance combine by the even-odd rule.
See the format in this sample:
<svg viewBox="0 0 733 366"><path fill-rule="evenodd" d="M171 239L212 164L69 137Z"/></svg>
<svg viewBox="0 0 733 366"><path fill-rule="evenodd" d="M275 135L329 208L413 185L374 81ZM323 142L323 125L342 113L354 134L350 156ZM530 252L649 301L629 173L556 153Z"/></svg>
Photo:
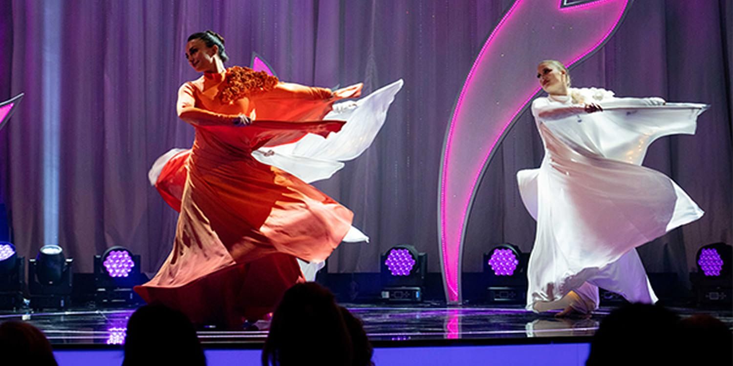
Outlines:
<svg viewBox="0 0 733 366"><path fill-rule="evenodd" d="M0 99L23 104L0 131L1 203L12 240L34 256L46 239L43 212L43 82L59 50L59 213L57 242L90 272L92 256L122 245L155 272L172 246L177 214L147 182L150 164L172 147L191 146L193 128L177 119L178 86L197 77L186 64L188 34L226 37L229 65L266 59L281 79L317 86L364 81L372 91L397 78L405 87L374 145L317 183L356 213L370 244L344 244L330 272L378 272L394 244L428 253L438 272L438 171L452 107L476 54L512 1L61 1L59 44L44 37L48 1L0 4ZM694 267L696 250L733 244L732 45L730 1L634 1L605 47L575 67L576 86L619 96L707 102L694 136L652 145L645 165L668 174L706 214L639 250L649 272ZM46 32L48 34L48 31ZM538 36L541 37L541 36ZM521 45L517 45L521 46ZM539 60L538 60L539 61ZM507 70L534 78L535 70ZM524 113L487 168L468 223L464 270L480 272L491 244L531 250L534 221L515 173L536 167L542 145Z"/></svg>

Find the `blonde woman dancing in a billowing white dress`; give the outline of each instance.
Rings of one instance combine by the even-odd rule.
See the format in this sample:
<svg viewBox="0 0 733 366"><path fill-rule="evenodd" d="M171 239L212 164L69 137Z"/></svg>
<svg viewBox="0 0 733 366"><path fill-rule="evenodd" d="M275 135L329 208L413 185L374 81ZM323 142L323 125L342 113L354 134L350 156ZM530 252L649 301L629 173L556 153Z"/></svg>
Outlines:
<svg viewBox="0 0 733 366"><path fill-rule="evenodd" d="M542 61L537 78L548 93L531 105L545 157L539 168L517 173L537 220L527 310L590 313L599 287L630 302L656 302L635 248L703 212L641 162L655 139L694 134L707 105L572 89L567 68L555 60Z"/></svg>

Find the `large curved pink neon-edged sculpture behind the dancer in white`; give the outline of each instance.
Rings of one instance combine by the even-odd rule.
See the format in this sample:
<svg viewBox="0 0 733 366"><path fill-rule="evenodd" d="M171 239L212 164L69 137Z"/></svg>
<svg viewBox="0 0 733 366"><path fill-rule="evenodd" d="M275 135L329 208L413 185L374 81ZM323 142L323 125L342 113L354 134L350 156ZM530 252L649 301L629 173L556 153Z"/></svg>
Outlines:
<svg viewBox="0 0 733 366"><path fill-rule="evenodd" d="M461 302L460 273L468 212L493 152L539 86L542 59L570 66L600 48L629 0L517 0L471 67L446 134L439 182L441 266L446 300Z"/></svg>

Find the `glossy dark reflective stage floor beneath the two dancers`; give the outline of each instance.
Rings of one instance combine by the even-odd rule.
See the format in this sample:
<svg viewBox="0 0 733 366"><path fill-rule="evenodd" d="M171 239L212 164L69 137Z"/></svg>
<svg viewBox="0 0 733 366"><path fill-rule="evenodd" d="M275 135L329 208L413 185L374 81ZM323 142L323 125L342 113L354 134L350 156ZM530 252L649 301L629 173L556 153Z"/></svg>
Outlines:
<svg viewBox="0 0 733 366"><path fill-rule="evenodd" d="M555 318L515 307L445 307L441 305L345 305L364 322L377 347L449 346L454 344L587 343L613 308L602 307L589 318ZM54 348L118 347L134 309L78 308L63 312L0 313L0 321L23 320L37 326ZM707 313L733 329L731 310L672 308L681 316ZM261 348L263 330L202 329L199 337L210 348Z"/></svg>

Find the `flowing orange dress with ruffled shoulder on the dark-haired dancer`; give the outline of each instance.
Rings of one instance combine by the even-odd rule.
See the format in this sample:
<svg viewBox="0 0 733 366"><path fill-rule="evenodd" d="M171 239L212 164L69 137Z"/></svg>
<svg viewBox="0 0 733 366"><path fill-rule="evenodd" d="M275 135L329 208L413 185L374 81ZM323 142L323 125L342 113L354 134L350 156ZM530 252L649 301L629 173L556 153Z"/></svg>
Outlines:
<svg viewBox="0 0 733 366"><path fill-rule="evenodd" d="M222 102L227 86L221 72L180 87L177 113L195 127L194 146L167 163L156 184L180 211L176 236L158 274L135 291L146 302L181 310L195 324L238 327L273 311L284 291L303 281L296 258L324 261L353 218L349 209L259 163L251 152L307 133L338 132L345 122L321 119L337 100L358 97L361 84L332 93L277 83ZM254 122L235 126L239 114ZM170 187L181 186L180 195L170 194Z"/></svg>

